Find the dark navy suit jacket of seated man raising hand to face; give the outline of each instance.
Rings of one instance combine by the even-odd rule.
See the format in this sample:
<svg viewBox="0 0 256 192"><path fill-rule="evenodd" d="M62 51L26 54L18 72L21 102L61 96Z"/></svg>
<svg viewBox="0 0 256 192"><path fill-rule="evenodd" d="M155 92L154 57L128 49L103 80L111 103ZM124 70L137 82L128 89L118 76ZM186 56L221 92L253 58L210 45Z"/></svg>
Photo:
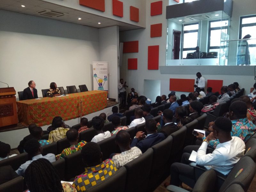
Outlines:
<svg viewBox="0 0 256 192"><path fill-rule="evenodd" d="M131 147L138 147L142 153L147 151L148 148L160 143L162 140L165 139L163 133L154 133L149 135L146 139L139 141L139 139L133 139L131 143Z"/></svg>

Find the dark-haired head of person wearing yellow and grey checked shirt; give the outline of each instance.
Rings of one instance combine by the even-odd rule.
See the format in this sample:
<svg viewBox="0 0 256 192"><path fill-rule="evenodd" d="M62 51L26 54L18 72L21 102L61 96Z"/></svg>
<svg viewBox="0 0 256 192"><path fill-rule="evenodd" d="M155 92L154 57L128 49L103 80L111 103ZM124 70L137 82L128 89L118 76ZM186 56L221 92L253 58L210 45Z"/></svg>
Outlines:
<svg viewBox="0 0 256 192"><path fill-rule="evenodd" d="M98 143L88 142L81 151L84 163L89 166L96 166L101 159L101 150Z"/></svg>

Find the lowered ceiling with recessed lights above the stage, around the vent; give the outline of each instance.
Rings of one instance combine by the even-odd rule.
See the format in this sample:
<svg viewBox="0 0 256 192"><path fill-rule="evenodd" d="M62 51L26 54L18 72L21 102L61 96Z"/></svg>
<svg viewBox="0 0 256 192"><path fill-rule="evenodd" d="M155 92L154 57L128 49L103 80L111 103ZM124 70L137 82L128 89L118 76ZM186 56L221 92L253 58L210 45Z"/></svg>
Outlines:
<svg viewBox="0 0 256 192"><path fill-rule="evenodd" d="M25 5L25 7L21 7L21 5ZM86 13L83 11L71 9L68 7L44 2L41 0L0 0L0 9L13 11L13 12L20 12L28 15L34 15L38 17L50 18L54 20L60 20L70 23L76 23L79 25L85 25L95 28L103 28L118 25L120 31L131 30L131 29L138 29L141 27L127 24L121 21L116 21L113 19L101 17L98 15L94 15L91 13ZM50 9L57 12L64 13L63 16L60 17L49 17L40 15L38 12L43 11L45 9ZM81 20L78 20L78 18ZM98 22L101 22L99 25Z"/></svg>

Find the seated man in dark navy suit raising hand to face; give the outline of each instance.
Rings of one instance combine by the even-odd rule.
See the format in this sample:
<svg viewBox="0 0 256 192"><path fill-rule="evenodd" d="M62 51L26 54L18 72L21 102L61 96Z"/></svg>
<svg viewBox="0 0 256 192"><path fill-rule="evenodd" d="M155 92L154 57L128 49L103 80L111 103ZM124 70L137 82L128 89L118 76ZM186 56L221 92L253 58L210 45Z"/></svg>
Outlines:
<svg viewBox="0 0 256 192"><path fill-rule="evenodd" d="M156 129L156 121L154 119L148 119L145 123L145 130L148 132L147 137L145 138L144 132L137 132L135 138L132 140L131 147L136 146L144 153L148 148L164 140L164 134L157 133Z"/></svg>

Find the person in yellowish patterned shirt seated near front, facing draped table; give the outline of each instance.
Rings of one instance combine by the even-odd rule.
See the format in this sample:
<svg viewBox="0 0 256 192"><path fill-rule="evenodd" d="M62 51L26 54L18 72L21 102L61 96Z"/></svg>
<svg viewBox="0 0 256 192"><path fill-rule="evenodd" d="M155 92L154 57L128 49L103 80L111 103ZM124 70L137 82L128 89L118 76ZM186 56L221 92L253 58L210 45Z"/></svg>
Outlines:
<svg viewBox="0 0 256 192"><path fill-rule="evenodd" d="M65 123L62 119L56 120L55 126L56 126L56 129L49 133L49 141L51 143L65 138L66 132L69 130L69 128L64 128Z"/></svg>

